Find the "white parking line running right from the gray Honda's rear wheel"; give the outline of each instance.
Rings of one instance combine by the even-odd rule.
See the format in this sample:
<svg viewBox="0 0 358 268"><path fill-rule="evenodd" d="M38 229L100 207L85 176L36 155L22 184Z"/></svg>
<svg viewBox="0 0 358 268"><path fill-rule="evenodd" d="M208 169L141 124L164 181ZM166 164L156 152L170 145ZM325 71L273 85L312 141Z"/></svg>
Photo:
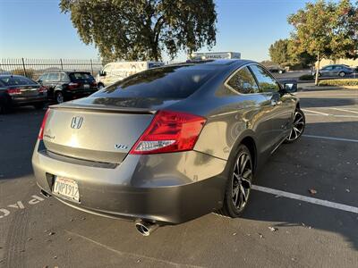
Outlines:
<svg viewBox="0 0 358 268"><path fill-rule="evenodd" d="M313 197L296 195L293 193L277 190L275 188L266 188L266 187L262 187L262 186L258 186L258 185L252 185L251 188L258 190L260 192L268 193L268 194L275 195L275 196L287 197L287 198L296 199L296 200L304 201L304 202L315 204L315 205L323 205L323 206L343 210L346 212L358 214L358 207L351 206L351 205L344 205L344 204L330 202L327 200L317 199L317 198L313 198Z"/></svg>

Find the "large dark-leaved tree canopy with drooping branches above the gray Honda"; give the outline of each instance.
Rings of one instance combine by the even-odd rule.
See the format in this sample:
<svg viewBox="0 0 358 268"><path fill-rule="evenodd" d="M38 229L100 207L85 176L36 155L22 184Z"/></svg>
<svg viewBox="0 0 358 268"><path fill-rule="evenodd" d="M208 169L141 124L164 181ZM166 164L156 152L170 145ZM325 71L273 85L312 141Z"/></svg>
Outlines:
<svg viewBox="0 0 358 268"><path fill-rule="evenodd" d="M85 44L107 59L174 58L216 43L217 13L212 0L61 0Z"/></svg>

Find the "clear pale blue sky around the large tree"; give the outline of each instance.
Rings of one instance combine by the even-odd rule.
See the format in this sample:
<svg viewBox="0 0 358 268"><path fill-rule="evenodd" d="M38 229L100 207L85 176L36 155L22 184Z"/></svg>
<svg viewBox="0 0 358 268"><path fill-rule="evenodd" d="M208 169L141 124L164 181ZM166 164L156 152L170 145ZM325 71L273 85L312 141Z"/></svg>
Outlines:
<svg viewBox="0 0 358 268"><path fill-rule="evenodd" d="M288 38L287 16L308 0L217 0L217 45L212 51L242 53L245 59L268 60L268 47ZM0 58L98 59L85 45L59 0L0 0ZM208 51L203 48L201 51ZM175 60L185 60L184 53ZM164 60L168 57L164 55Z"/></svg>

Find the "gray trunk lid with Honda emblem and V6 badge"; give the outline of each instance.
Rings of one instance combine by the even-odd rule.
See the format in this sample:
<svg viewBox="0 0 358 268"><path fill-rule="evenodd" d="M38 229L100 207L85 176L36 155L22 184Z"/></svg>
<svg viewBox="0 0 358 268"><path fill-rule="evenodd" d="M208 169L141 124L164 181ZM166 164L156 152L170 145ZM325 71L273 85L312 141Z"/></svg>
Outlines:
<svg viewBox="0 0 358 268"><path fill-rule="evenodd" d="M115 106L52 106L44 130L48 151L102 163L121 163L155 111Z"/></svg>

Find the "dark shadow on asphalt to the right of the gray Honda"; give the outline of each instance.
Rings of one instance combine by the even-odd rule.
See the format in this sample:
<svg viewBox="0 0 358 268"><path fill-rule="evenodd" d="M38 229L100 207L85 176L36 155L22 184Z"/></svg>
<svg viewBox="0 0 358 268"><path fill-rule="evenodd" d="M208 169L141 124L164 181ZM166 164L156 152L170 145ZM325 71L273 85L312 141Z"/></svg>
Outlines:
<svg viewBox="0 0 358 268"><path fill-rule="evenodd" d="M336 130L330 136L351 138L349 134L357 127L358 121L309 123L306 134ZM281 146L257 174L254 184L357 207L356 152L358 144L354 142L303 137L294 144ZM317 193L312 195L311 188ZM274 225L278 229L301 226L306 231L339 233L358 250L358 214L354 210L343 211L257 190L251 194L251 203L243 218L277 222Z"/></svg>

